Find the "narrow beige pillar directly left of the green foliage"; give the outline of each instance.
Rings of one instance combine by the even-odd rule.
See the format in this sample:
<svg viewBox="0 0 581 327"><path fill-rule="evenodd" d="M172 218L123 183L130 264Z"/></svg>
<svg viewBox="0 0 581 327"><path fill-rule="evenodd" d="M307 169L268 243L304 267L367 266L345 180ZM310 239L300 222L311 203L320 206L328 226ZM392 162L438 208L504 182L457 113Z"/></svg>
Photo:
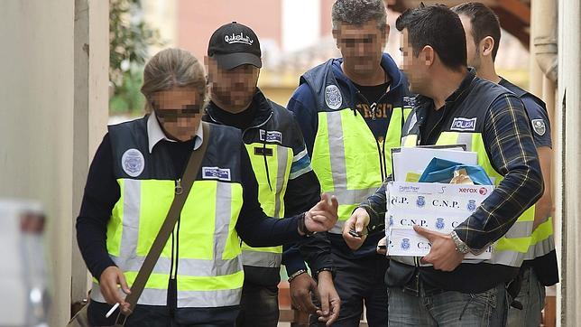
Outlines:
<svg viewBox="0 0 581 327"><path fill-rule="evenodd" d="M82 200L88 164L106 133L108 108L109 6L106 1L75 0L74 126L72 181L71 301L87 297L88 272L77 247L74 218Z"/></svg>

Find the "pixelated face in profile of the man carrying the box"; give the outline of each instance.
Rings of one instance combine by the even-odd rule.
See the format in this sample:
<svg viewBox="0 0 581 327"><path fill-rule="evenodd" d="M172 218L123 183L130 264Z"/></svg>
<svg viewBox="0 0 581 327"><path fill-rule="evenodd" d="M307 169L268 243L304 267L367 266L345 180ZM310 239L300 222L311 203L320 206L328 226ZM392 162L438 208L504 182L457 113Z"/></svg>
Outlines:
<svg viewBox="0 0 581 327"><path fill-rule="evenodd" d="M411 43L408 39L408 29L404 29L400 35L401 70L403 70L410 81L410 90L413 93L425 94L422 92L427 84L429 64L424 58L423 51L416 57L413 55ZM422 60L422 58L424 58Z"/></svg>

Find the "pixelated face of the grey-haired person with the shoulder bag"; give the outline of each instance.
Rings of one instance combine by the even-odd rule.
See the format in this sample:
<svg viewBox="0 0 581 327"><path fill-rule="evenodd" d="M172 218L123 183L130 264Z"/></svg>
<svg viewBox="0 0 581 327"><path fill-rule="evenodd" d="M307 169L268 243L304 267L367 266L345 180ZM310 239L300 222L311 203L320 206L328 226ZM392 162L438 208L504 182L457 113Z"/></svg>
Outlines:
<svg viewBox="0 0 581 327"><path fill-rule="evenodd" d="M168 89L152 96L153 113L163 132L179 141L188 141L196 134L203 104L203 94L193 87Z"/></svg>

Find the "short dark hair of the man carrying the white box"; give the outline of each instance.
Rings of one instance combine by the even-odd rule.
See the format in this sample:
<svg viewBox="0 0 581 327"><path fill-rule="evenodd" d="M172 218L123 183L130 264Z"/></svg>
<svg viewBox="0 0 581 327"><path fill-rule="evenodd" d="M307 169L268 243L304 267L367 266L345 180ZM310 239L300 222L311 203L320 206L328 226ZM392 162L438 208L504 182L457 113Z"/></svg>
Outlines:
<svg viewBox="0 0 581 327"><path fill-rule="evenodd" d="M395 22L398 31L408 29L413 55L426 45L434 48L449 69L466 67L466 33L460 17L445 5L420 5L408 9Z"/></svg>

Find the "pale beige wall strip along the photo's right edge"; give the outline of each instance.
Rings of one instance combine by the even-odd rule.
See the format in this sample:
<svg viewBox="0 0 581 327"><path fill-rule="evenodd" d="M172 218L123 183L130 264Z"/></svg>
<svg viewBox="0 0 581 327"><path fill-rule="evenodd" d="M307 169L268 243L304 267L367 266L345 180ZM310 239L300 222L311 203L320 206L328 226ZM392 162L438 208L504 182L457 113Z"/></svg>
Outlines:
<svg viewBox="0 0 581 327"><path fill-rule="evenodd" d="M581 326L581 4L558 2L558 149L556 226L560 236L561 285L558 325ZM567 93L567 95L566 95ZM560 321L559 321L560 318Z"/></svg>

